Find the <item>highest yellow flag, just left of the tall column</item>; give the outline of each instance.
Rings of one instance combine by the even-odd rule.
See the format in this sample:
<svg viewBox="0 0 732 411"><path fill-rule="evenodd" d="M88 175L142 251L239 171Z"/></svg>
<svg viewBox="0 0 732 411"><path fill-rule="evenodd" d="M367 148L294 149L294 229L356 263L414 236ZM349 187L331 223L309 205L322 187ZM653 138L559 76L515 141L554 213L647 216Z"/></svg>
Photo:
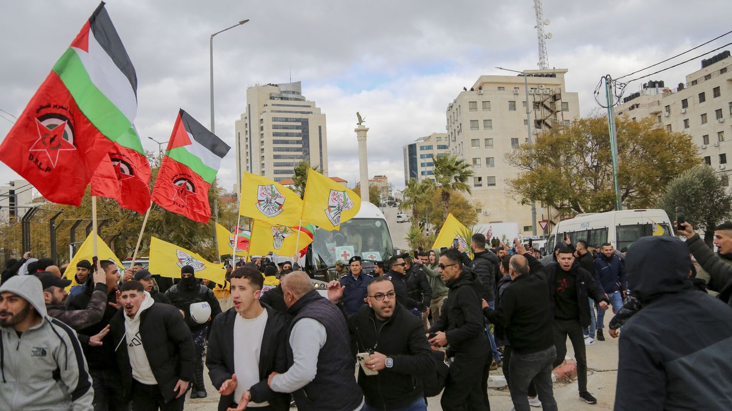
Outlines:
<svg viewBox="0 0 732 411"><path fill-rule="evenodd" d="M302 221L324 230L340 230L340 223L354 218L361 209L361 197L343 184L321 173L307 171L302 199Z"/></svg>

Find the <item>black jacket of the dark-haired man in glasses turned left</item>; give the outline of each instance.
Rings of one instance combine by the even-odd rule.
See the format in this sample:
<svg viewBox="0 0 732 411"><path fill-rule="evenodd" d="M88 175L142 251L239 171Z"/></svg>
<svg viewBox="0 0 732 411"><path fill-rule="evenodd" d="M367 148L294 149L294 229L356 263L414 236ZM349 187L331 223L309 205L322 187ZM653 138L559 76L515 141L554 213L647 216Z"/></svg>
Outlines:
<svg viewBox="0 0 732 411"><path fill-rule="evenodd" d="M480 306L482 283L478 276L463 266L457 279L445 283L450 289L438 320L430 333L444 331L450 350L456 355L481 357L490 349L485 334L483 310Z"/></svg>

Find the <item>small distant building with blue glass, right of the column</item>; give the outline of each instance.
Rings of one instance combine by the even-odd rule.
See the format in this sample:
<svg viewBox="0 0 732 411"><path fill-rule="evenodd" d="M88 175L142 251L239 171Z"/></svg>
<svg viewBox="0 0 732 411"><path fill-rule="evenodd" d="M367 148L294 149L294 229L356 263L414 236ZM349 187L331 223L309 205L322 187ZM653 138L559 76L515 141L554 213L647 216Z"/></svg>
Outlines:
<svg viewBox="0 0 732 411"><path fill-rule="evenodd" d="M416 178L422 181L432 177L434 164L432 158L438 154L447 153L447 133L433 132L426 137L420 137L414 143L402 146L404 151L404 184Z"/></svg>

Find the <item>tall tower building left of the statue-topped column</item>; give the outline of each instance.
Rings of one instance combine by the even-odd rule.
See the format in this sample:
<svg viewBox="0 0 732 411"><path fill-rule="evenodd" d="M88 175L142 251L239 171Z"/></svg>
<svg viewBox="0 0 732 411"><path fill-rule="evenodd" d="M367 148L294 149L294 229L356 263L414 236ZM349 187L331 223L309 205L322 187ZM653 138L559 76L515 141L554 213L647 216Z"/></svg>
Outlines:
<svg viewBox="0 0 732 411"><path fill-rule="evenodd" d="M247 108L234 126L236 186L242 171L282 181L292 178L303 159L328 175L325 113L302 95L302 84L266 84L247 88Z"/></svg>

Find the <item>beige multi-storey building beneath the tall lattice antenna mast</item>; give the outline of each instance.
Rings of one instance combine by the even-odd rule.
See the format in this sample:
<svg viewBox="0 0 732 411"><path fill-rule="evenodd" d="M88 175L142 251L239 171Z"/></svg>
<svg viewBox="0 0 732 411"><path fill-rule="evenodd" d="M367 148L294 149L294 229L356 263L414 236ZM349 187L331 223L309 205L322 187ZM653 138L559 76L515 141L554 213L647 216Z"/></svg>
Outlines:
<svg viewBox="0 0 732 411"><path fill-rule="evenodd" d="M580 116L578 94L564 88L567 71L526 70L529 102L523 75L482 75L447 106L449 151L473 166L469 197L480 203L479 224L518 222L519 230L531 235L531 206L522 205L506 184L520 170L509 165L505 157L528 142L527 128L534 141ZM537 222L547 219L546 213L537 203Z"/></svg>

